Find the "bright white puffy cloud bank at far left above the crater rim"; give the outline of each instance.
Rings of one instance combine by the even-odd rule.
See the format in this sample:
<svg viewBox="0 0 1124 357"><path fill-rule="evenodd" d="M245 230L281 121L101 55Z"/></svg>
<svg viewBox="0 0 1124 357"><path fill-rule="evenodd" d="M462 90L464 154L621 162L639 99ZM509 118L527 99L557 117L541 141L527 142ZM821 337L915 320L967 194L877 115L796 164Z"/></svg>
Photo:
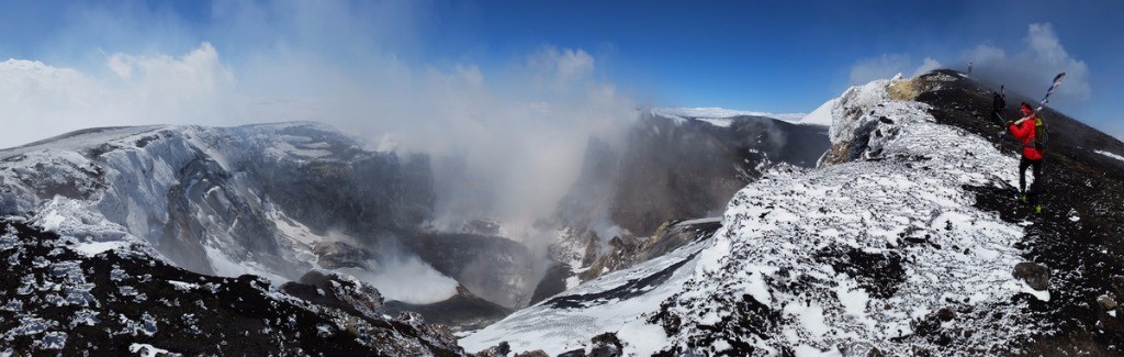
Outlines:
<svg viewBox="0 0 1124 357"><path fill-rule="evenodd" d="M210 44L182 57L114 54L108 75L38 61L0 63L0 146L91 126L221 124L233 75Z"/></svg>

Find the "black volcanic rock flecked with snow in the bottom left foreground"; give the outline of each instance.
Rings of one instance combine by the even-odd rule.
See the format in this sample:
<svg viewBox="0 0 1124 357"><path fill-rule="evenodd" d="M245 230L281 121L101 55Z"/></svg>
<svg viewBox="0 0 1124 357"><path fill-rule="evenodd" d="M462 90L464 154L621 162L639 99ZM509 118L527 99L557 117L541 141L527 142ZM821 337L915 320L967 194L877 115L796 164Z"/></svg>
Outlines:
<svg viewBox="0 0 1124 357"><path fill-rule="evenodd" d="M0 221L0 354L126 355L147 345L185 355L464 355L439 329L338 303L346 298L320 304L261 277L194 274L143 246L87 257L74 238L19 221ZM368 292L365 306L378 307L370 286L325 282L343 283L329 288L337 297ZM309 288L323 289L284 289Z"/></svg>

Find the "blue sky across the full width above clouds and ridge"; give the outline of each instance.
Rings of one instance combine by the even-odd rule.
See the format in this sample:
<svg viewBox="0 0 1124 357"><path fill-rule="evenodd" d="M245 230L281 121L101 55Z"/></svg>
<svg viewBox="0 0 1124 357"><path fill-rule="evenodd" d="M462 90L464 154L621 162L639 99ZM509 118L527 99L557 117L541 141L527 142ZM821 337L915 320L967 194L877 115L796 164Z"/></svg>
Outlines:
<svg viewBox="0 0 1124 357"><path fill-rule="evenodd" d="M579 61L583 80L611 84L636 105L806 113L850 84L977 61L979 75L1031 96L1055 72L1076 69L1055 107L1124 134L1115 110L1124 99L1121 1L48 0L0 8L0 59L103 80L115 55L147 69L144 61L178 60L207 43L219 81L228 75L233 92L255 98L300 100L350 90L338 82L365 90L347 78L395 82L387 79L465 68L504 82L490 89L502 97L534 78L513 74L528 59L575 53L591 60ZM1041 42L1046 50L1032 50ZM287 65L271 62L278 56ZM379 65L406 70L371 74ZM293 73L306 68L323 70Z"/></svg>

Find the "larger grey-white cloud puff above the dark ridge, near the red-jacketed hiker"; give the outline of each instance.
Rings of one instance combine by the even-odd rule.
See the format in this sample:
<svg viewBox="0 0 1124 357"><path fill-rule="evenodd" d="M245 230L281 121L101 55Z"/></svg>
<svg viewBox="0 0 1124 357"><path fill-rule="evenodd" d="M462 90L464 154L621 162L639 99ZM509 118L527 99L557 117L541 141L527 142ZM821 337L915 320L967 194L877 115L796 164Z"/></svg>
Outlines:
<svg viewBox="0 0 1124 357"><path fill-rule="evenodd" d="M1051 97L1053 104L1087 100L1089 69L1062 46L1050 24L1031 24L1023 46L1008 54L990 45L979 45L964 55L976 63L972 75L1018 93L1040 98L1058 72L1066 72L1064 86Z"/></svg>

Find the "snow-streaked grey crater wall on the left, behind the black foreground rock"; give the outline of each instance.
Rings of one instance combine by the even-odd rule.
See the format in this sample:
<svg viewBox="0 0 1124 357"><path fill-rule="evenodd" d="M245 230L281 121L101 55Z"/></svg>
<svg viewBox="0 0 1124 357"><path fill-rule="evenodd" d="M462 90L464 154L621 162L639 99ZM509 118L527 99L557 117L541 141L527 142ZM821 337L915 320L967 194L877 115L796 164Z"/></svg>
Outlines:
<svg viewBox="0 0 1124 357"><path fill-rule="evenodd" d="M317 123L93 128L2 150L0 161L0 212L90 253L143 240L192 271L277 283L346 268L321 258L410 230L432 209L424 160L365 152ZM441 286L434 301L455 294L455 282Z"/></svg>

